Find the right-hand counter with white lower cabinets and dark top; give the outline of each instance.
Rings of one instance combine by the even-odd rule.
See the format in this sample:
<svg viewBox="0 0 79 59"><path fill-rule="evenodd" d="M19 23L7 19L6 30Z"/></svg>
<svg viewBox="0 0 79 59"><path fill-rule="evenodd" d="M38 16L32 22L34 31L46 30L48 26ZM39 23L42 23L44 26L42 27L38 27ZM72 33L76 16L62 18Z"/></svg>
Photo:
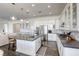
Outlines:
<svg viewBox="0 0 79 59"><path fill-rule="evenodd" d="M60 56L79 56L79 41L68 41L67 37L57 34L57 46Z"/></svg>

